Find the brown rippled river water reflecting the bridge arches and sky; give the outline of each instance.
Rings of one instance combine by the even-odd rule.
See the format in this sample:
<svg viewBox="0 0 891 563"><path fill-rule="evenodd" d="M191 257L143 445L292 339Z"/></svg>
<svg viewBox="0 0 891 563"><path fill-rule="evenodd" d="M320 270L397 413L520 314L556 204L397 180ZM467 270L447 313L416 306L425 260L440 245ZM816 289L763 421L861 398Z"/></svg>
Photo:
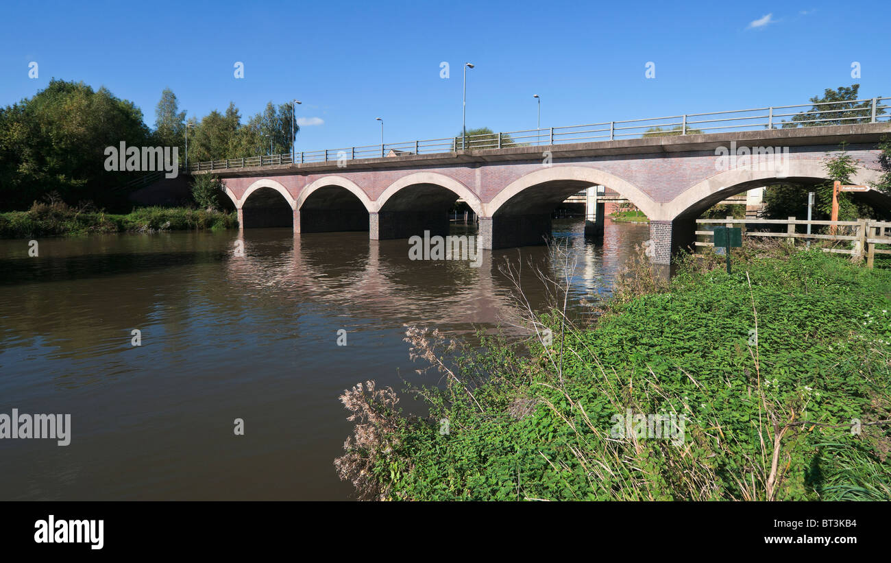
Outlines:
<svg viewBox="0 0 891 563"><path fill-rule="evenodd" d="M608 224L602 246L582 232L554 222L576 262L576 310L609 291L649 229ZM504 260L522 260L535 307L533 269L562 267L553 248L485 252L474 268L409 260L407 241L288 229L28 248L0 241L0 413L70 413L72 439L0 441L2 500L349 498L331 464L350 431L343 389L417 377L405 323L469 336L510 319Z"/></svg>

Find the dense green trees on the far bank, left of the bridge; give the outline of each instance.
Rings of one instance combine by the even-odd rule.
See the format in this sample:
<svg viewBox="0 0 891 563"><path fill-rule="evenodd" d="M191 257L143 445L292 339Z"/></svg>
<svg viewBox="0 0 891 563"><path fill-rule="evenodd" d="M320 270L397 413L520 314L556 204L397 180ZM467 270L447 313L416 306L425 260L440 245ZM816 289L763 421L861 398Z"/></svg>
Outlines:
<svg viewBox="0 0 891 563"><path fill-rule="evenodd" d="M225 113L213 110L190 125L192 162L252 157L270 148L287 152L292 131L299 131L290 103L272 102L244 124L230 103ZM108 89L52 80L32 98L0 108L0 211L28 209L50 193L69 205L125 211L137 189L127 183L143 173L106 171L105 148L178 147L184 162L185 130L185 112L169 88L161 93L151 131L142 110Z"/></svg>

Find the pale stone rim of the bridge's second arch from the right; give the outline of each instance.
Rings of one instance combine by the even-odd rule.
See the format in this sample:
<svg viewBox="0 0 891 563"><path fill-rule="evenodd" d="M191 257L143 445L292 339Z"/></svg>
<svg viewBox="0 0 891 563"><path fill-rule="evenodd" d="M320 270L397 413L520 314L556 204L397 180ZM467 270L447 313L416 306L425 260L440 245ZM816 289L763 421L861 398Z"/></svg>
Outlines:
<svg viewBox="0 0 891 563"><path fill-rule="evenodd" d="M563 189L548 190L549 186L563 184ZM495 198L486 204L486 215L520 211L529 205L556 206L574 191L590 185L605 185L634 203L647 216L658 214L658 204L640 188L624 178L593 167L554 166L536 170L508 184ZM536 189L541 187L541 189ZM551 193L545 193L551 192ZM524 201L527 200L527 201ZM525 205L524 205L525 204ZM548 209L550 212L551 209Z"/></svg>

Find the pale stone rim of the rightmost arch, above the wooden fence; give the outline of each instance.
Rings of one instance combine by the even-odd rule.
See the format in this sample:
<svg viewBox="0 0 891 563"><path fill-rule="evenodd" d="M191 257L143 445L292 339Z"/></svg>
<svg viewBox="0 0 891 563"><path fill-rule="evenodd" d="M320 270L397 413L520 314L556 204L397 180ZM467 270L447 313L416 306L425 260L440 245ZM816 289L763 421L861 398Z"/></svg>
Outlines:
<svg viewBox="0 0 891 563"><path fill-rule="evenodd" d="M712 175L694 184L677 195L674 200L664 203L663 217L674 220L678 217L699 216L707 208L732 195L752 188L777 182L816 184L826 180L826 170L822 160L790 159L788 166L779 175L776 169L761 170L758 167L732 168ZM879 179L879 171L860 167L854 175L855 184L866 184ZM881 200L887 196L870 190L870 200ZM886 203L887 205L887 203Z"/></svg>

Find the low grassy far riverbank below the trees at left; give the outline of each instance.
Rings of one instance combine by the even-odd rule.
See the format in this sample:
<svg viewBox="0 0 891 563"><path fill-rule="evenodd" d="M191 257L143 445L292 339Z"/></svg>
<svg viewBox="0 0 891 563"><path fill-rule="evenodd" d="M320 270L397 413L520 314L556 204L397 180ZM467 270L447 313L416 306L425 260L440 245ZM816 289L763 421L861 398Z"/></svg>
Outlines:
<svg viewBox="0 0 891 563"><path fill-rule="evenodd" d="M32 239L98 233L220 230L238 227L234 213L192 208L135 208L127 215L64 203L35 203L28 211L0 213L0 238Z"/></svg>

